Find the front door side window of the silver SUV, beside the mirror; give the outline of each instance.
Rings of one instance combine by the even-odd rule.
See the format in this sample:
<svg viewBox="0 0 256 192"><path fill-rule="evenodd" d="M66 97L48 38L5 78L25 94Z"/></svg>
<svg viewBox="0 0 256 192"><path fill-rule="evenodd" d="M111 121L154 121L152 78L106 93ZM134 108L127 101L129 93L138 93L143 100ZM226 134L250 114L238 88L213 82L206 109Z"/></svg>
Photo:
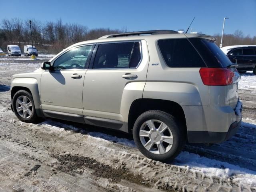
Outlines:
<svg viewBox="0 0 256 192"><path fill-rule="evenodd" d="M87 69L91 52L92 45L73 48L54 61L54 70Z"/></svg>

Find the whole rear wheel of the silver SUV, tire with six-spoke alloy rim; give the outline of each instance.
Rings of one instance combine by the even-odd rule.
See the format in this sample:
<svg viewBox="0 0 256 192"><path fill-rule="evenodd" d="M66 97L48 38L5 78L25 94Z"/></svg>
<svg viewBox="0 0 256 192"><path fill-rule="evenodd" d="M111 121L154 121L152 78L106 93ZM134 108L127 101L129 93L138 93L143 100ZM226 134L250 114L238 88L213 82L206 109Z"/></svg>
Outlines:
<svg viewBox="0 0 256 192"><path fill-rule="evenodd" d="M162 133L160 133L159 131L155 131L149 134L149 136L140 136L140 133L144 134L143 132L141 132L141 130L143 129L144 129L143 131L149 130L149 126L146 123L146 121L153 122L154 124L153 127L158 128L156 130L159 130L160 126L158 127L158 125L160 125L161 122L164 123L167 126L167 128L165 130L163 129L164 131ZM184 128L182 128L181 126L178 126L178 124L179 123L177 122L176 118L174 118L174 116L166 112L159 111L159 110L146 111L142 113L134 123L133 132L132 132L134 142L138 147L138 149L140 150L140 152L142 152L142 154L144 154L148 158L161 161L161 162L168 162L170 160L173 160L182 151L186 142L186 138L185 138L186 134L184 133ZM170 136L166 136L168 132L170 132L169 133ZM163 136L169 138L168 142L171 142L170 137L172 136L173 138L172 146L169 143L161 141ZM148 138L148 141L146 138ZM154 144L150 144L152 145L150 149L151 151L144 147L144 146L149 146L149 145L146 145L147 143L152 143L149 140L154 142ZM155 142L158 142L158 144L156 144ZM161 147L159 145L162 145L164 147L167 145L168 146L164 151L162 150L162 153L160 153L161 150L159 150L159 148ZM150 146L148 148L150 148ZM154 150L158 150L158 152Z"/></svg>

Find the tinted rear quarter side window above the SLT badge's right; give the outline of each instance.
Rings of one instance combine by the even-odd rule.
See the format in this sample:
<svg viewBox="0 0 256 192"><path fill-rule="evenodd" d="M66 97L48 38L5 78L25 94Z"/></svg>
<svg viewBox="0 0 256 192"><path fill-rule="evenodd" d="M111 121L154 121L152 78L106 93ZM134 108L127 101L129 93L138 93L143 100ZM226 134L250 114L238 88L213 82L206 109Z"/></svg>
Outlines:
<svg viewBox="0 0 256 192"><path fill-rule="evenodd" d="M187 39L164 39L158 46L169 67L203 67L204 61Z"/></svg>

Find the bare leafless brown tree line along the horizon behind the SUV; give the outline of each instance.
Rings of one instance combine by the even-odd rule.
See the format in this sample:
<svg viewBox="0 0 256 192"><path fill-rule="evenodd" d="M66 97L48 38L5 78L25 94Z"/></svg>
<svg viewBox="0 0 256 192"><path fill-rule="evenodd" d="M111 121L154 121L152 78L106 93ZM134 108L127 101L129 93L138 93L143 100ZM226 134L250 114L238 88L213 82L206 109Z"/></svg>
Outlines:
<svg viewBox="0 0 256 192"><path fill-rule="evenodd" d="M23 45L31 44L30 24L28 20L20 18L3 19L0 24L0 48L6 51L8 44ZM33 19L31 24L33 44L39 50L52 54L60 52L62 49L76 42L97 39L107 34L128 32L127 27L121 29L95 28L89 29L87 26L66 23L61 19L56 22L40 22ZM221 35L215 34L216 44L219 46ZM241 30L236 30L234 34L224 34L222 46L256 44L256 36L244 36Z"/></svg>

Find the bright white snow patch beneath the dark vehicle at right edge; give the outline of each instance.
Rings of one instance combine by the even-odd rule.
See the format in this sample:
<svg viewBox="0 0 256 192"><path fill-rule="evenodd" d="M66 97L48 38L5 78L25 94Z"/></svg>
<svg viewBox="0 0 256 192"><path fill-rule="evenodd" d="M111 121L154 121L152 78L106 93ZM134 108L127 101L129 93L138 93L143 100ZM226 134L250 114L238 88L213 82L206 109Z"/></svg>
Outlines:
<svg viewBox="0 0 256 192"><path fill-rule="evenodd" d="M238 84L240 90L256 90L256 75L252 71L241 74L241 80Z"/></svg>

